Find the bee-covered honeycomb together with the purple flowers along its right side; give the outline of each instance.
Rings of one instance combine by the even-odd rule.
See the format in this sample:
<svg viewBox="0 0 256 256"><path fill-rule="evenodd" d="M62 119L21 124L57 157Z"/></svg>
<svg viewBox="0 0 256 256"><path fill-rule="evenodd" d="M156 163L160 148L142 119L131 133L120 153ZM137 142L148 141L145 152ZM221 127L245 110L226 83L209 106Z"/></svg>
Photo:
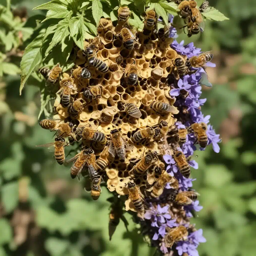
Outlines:
<svg viewBox="0 0 256 256"><path fill-rule="evenodd" d="M57 137L41 146L54 144L59 164L73 162L72 178L89 177L92 199L99 198L101 183L126 199L112 204L110 238L125 207L148 226L143 232L152 245L170 253L199 236L189 223L199 208L190 158L195 144L216 149L219 142L199 99L203 66L213 55L177 46L170 24L157 30L154 10L146 12L143 31L127 22L128 7L118 9L118 19L114 26L101 18L98 36L74 49L71 70L41 70L59 85L56 114L40 122ZM80 152L67 160L65 147L74 142Z"/></svg>

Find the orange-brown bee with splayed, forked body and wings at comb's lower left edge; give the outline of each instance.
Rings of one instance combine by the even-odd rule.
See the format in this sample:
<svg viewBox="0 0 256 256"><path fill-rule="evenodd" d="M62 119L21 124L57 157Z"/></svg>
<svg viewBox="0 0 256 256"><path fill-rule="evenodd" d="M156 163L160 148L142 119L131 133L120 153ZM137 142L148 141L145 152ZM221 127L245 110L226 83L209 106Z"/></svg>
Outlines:
<svg viewBox="0 0 256 256"><path fill-rule="evenodd" d="M84 166L87 166L89 176L92 179L97 175L97 167L95 165L96 157L94 151L91 148L82 150L80 153L72 157L67 161L67 163L74 162L70 169L70 176L72 179L78 177L80 180L80 175Z"/></svg>

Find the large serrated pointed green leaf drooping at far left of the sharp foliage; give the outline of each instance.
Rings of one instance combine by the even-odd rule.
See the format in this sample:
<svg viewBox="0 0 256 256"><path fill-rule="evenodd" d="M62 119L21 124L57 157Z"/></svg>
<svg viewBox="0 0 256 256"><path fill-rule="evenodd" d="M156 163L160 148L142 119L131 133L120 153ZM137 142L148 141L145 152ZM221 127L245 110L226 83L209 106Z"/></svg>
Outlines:
<svg viewBox="0 0 256 256"><path fill-rule="evenodd" d="M42 45L44 32L45 30L41 30L40 34L25 48L23 57L20 62L20 69L21 69L21 81L20 81L20 88L19 88L20 94L22 92L22 89L24 88L24 85L27 79L29 78L31 73L34 71L34 69L42 60L40 49Z"/></svg>

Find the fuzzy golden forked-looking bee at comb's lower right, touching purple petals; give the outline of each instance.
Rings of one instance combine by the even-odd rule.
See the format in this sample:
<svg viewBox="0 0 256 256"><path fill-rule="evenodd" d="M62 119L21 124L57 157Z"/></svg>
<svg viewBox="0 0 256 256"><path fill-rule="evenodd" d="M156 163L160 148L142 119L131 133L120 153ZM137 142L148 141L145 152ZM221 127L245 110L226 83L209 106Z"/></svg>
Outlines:
<svg viewBox="0 0 256 256"><path fill-rule="evenodd" d="M170 174L168 174L166 171L162 173L162 169L158 168L155 169L155 173L160 175L159 178L153 183L151 196L152 197L158 197L163 194L165 185L169 182L170 186L172 186L174 189L179 188L179 182L177 179L172 177Z"/></svg>

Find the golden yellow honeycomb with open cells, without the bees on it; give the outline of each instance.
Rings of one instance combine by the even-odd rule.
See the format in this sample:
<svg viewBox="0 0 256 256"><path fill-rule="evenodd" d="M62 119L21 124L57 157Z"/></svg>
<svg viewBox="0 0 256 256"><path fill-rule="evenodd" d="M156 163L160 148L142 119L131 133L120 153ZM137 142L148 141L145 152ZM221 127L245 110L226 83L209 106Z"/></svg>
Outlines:
<svg viewBox="0 0 256 256"><path fill-rule="evenodd" d="M82 103L82 109L76 116L70 116L68 107L62 106L60 95L57 94L54 103L56 114L53 119L61 120L58 122L58 126L71 122L76 125L77 131L81 127L90 127L106 135L108 142L105 147L101 148L99 142L82 138L81 149L92 148L96 159L100 156L106 159L107 167L104 170L99 170L98 173L111 192L116 191L121 196L127 196L129 194L127 183L133 181L140 192L144 194L147 192L148 186L151 186L159 177L154 168L156 166L162 170L166 168L163 160L168 146L165 139L166 132L160 131L158 135L143 142L134 142L132 137L135 132L147 127L155 129L161 121L166 121L168 127L177 121L175 115L179 111L174 106L175 98L169 95L171 88L168 84L168 75L173 72L178 76L173 64L178 54L170 47L172 38L162 41L155 34L145 36L143 32L137 31L134 48L126 49L118 36L123 26L124 24L118 22L114 27L110 19L102 18L98 27L98 36L84 41L84 51L76 51L73 69L60 75L59 92L65 82L71 82L73 84L72 101L79 100ZM89 64L88 57L84 54L88 47L93 49L95 57L108 65L107 72L101 72ZM185 58L185 56L180 57ZM127 82L127 73L132 65L136 65L138 74L138 81L134 85ZM79 68L86 68L90 71L91 77L78 76L74 70ZM94 87L102 87L100 97L85 98L84 91ZM157 113L151 107L154 102L169 104L171 111ZM128 103L133 103L140 110L140 118L135 118L127 113L125 106ZM126 151L125 161L121 161L117 155L111 156L108 152L111 141L110 132L113 129L119 129L124 141L133 146L131 151ZM68 134L63 136L68 137ZM66 139L70 139L70 137ZM143 158L150 151L157 152L157 161L147 170L147 173L133 179L130 176L130 171L135 165L134 161ZM172 154L173 152L169 150L168 153ZM127 197L125 201L125 208L136 211L130 197Z"/></svg>

